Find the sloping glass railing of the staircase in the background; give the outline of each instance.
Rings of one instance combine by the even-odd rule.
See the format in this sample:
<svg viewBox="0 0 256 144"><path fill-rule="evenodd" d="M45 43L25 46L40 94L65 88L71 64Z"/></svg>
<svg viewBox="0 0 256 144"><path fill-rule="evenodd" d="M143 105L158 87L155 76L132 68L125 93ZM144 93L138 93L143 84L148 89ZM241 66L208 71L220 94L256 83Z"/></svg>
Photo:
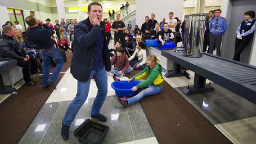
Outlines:
<svg viewBox="0 0 256 144"><path fill-rule="evenodd" d="M128 7L125 7L124 9L122 10L119 10L118 12L116 13L119 13L120 14L120 20L124 19L125 17L127 17L129 14L133 13L134 11L136 10L136 5L135 4L129 4ZM108 18L108 21L110 23L114 22L116 20L116 13L111 15L109 18Z"/></svg>

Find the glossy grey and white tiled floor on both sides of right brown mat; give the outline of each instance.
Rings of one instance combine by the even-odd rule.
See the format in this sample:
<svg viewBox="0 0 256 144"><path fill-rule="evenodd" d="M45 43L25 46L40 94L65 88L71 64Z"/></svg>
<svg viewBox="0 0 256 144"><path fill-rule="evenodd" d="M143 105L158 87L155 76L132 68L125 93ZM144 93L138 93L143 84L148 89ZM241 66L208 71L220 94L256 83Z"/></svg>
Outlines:
<svg viewBox="0 0 256 144"><path fill-rule="evenodd" d="M188 73L191 79L183 76L164 79L233 143L255 143L256 105L213 83L214 91L187 96L182 90L194 81L194 73ZM102 143L158 143L140 103L124 108L111 88L112 82L110 75L108 95L101 108L108 121L100 122L108 125L110 130ZM92 80L88 99L71 124L69 140L64 141L60 136L61 120L76 94L76 80L68 70L19 143L79 143L73 135L75 129L86 119L97 121L90 116L96 91Z"/></svg>

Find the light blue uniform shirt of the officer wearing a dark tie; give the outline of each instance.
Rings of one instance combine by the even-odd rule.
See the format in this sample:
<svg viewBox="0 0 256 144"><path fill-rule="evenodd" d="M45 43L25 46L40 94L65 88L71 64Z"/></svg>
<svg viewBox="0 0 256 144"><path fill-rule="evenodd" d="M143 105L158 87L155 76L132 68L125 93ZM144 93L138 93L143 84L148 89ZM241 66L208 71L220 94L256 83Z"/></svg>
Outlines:
<svg viewBox="0 0 256 144"><path fill-rule="evenodd" d="M218 25L217 25L217 30L215 30L215 24L217 19L218 19ZM221 17L219 18L214 17L210 21L209 29L213 35L224 34L225 31L227 30L227 20Z"/></svg>

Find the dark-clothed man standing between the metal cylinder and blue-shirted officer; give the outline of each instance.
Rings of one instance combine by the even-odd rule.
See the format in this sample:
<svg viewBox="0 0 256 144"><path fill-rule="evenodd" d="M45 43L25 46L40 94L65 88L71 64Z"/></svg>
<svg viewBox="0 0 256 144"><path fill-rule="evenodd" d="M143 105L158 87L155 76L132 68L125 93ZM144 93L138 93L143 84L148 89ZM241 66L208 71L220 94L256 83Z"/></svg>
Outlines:
<svg viewBox="0 0 256 144"><path fill-rule="evenodd" d="M210 25L210 21L214 18L214 11L209 11L208 16L210 19L205 24L203 52L206 52L207 46L210 47L210 33L211 32L209 29L209 25ZM208 49L208 53L209 53L209 49Z"/></svg>

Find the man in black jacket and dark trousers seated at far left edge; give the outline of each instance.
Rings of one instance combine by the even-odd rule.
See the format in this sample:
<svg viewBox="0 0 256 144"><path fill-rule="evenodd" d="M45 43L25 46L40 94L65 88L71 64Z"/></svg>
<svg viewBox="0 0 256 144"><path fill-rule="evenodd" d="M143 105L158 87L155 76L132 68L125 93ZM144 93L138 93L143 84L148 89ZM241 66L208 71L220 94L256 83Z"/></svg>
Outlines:
<svg viewBox="0 0 256 144"><path fill-rule="evenodd" d="M31 63L31 74L36 74L36 60L33 58L30 59L29 56L25 54L23 47L18 47L17 41L13 39L13 36L15 34L15 28L13 28L12 26L4 26L3 32L3 36L0 37L0 58L17 59L18 66L22 67L23 79L25 81L25 84L29 86L36 85L31 82L29 73L30 65L28 63L29 60ZM21 56L22 54L24 56Z"/></svg>

